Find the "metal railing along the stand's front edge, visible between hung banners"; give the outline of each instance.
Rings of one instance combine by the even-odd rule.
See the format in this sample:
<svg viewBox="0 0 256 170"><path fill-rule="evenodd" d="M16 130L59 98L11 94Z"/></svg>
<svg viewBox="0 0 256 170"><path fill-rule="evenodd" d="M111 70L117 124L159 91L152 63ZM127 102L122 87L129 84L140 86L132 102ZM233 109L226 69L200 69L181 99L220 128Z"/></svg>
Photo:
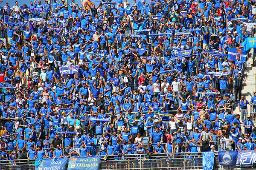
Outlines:
<svg viewBox="0 0 256 170"><path fill-rule="evenodd" d="M133 154L111 156L100 161L100 170L158 170L175 167L177 170L203 169L202 153L161 153L161 154ZM34 170L35 159L17 159L0 161L0 170ZM215 155L215 167L219 167L218 156Z"/></svg>

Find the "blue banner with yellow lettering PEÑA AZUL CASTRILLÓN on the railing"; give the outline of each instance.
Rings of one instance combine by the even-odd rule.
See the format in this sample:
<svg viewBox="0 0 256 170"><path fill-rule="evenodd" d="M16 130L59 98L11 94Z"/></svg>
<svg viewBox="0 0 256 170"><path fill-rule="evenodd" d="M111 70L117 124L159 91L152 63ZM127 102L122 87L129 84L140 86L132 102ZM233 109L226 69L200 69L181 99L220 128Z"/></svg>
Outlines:
<svg viewBox="0 0 256 170"><path fill-rule="evenodd" d="M99 170L100 156L72 157L68 163L67 170Z"/></svg>

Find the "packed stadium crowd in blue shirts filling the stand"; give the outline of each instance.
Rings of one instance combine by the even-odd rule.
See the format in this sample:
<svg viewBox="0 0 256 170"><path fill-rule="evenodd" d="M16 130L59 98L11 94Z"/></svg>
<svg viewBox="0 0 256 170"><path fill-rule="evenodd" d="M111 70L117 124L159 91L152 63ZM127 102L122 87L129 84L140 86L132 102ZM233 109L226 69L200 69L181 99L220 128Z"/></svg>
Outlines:
<svg viewBox="0 0 256 170"><path fill-rule="evenodd" d="M255 14L249 0L6 2L1 160L256 150L256 93L227 55Z"/></svg>

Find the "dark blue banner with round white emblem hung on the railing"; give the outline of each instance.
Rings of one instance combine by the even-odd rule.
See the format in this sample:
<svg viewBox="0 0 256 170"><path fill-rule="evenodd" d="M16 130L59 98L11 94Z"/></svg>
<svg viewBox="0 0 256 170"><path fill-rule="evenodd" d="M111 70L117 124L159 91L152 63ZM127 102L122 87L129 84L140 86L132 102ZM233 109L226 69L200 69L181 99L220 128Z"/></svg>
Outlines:
<svg viewBox="0 0 256 170"><path fill-rule="evenodd" d="M236 158L237 158L238 151L219 151L219 162L221 165L236 165Z"/></svg>

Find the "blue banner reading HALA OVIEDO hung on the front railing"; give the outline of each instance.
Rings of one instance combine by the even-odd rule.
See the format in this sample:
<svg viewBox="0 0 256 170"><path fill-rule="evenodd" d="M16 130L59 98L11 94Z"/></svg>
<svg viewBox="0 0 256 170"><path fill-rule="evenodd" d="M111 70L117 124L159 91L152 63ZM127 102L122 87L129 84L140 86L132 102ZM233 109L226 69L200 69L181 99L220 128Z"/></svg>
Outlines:
<svg viewBox="0 0 256 170"><path fill-rule="evenodd" d="M41 161L40 166L38 167L39 170L65 170L67 166L68 158L56 158L55 159L43 159Z"/></svg>

